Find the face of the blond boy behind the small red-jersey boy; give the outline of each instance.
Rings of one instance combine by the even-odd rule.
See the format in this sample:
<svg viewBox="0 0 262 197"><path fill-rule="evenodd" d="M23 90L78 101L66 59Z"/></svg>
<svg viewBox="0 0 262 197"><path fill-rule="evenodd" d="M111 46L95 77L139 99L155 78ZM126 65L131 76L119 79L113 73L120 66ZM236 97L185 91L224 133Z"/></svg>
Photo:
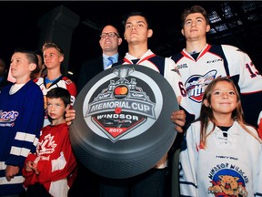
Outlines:
<svg viewBox="0 0 262 197"><path fill-rule="evenodd" d="M60 67L64 60L64 57L54 47L46 48L43 57L47 68Z"/></svg>

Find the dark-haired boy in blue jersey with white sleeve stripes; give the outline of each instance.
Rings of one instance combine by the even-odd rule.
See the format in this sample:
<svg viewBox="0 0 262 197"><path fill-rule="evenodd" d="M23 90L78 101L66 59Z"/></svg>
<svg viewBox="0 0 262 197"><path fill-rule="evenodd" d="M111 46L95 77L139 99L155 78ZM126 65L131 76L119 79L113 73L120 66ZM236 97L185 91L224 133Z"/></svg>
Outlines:
<svg viewBox="0 0 262 197"><path fill-rule="evenodd" d="M41 89L30 79L37 65L35 53L17 49L11 58L15 84L0 92L0 196L19 196L24 191L22 168L35 150L44 120Z"/></svg>

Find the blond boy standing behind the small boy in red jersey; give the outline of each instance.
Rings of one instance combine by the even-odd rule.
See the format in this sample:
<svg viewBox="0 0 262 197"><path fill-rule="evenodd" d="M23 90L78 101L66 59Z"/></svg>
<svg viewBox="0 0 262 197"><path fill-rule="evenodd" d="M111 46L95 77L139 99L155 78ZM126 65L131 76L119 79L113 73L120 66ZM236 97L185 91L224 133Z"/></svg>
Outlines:
<svg viewBox="0 0 262 197"><path fill-rule="evenodd" d="M46 93L56 87L65 88L71 95L71 106L76 100L76 84L61 73L61 64L64 61L64 51L55 43L45 43L42 47L44 63L47 75L43 78L36 78L36 84L42 89L46 109ZM45 110L46 111L46 110ZM44 126L50 124L47 113L45 113Z"/></svg>

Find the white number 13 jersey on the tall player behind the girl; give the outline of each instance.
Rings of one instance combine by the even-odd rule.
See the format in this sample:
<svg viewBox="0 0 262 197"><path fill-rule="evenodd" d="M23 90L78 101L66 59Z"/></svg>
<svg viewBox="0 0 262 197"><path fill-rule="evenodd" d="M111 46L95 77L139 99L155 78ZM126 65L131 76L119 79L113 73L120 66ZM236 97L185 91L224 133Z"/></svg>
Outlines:
<svg viewBox="0 0 262 197"><path fill-rule="evenodd" d="M214 78L229 77L240 91L245 120L257 127L262 110L262 77L246 53L237 47L207 45L196 60L186 49L171 58L176 62L196 118L207 85Z"/></svg>

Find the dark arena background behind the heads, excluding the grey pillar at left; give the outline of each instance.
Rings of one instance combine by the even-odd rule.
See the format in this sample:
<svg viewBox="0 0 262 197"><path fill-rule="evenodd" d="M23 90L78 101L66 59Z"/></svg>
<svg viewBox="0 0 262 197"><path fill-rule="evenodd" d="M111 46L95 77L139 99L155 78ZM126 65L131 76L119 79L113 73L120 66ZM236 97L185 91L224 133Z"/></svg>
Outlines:
<svg viewBox="0 0 262 197"><path fill-rule="evenodd" d="M2 1L0 2L0 57L10 63L15 47L36 49L41 29L38 19L63 5L79 16L72 35L68 70L77 82L80 65L101 55L98 28L116 24L123 37L121 18L132 10L145 12L152 21L154 34L149 47L157 55L170 57L185 47L181 35L180 15L184 8L202 5L211 19L209 44L228 44L247 52L257 69L262 70L262 2L261 1ZM89 21L89 22L88 22ZM88 22L93 26L86 25ZM119 52L127 51L123 40Z"/></svg>

